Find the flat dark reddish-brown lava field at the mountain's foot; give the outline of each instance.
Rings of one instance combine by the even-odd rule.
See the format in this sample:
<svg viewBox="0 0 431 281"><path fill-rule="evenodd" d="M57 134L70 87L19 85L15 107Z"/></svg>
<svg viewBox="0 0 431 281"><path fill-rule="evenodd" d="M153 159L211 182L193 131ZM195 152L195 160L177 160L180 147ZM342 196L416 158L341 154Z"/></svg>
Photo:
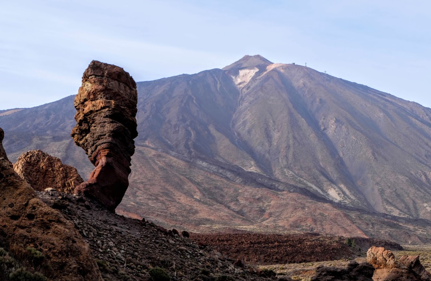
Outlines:
<svg viewBox="0 0 431 281"><path fill-rule="evenodd" d="M387 240L353 237L356 247L345 244L346 237L305 234L197 234L190 237L200 245L210 245L233 259L252 264L319 262L365 254L370 245L400 249Z"/></svg>

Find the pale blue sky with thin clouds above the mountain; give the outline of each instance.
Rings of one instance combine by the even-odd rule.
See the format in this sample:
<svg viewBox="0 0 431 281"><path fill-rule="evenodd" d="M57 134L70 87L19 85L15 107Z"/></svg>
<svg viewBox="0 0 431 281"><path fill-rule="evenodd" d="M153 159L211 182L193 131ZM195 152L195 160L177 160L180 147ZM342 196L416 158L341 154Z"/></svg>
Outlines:
<svg viewBox="0 0 431 281"><path fill-rule="evenodd" d="M246 54L431 107L430 27L425 0L0 0L0 109L76 94L92 59L148 81Z"/></svg>

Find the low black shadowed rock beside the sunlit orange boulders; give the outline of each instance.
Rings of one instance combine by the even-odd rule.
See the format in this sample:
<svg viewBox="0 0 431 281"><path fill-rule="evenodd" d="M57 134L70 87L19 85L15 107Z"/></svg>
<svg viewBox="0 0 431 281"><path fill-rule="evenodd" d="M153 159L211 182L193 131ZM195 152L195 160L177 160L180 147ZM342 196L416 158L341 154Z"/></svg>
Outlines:
<svg viewBox="0 0 431 281"><path fill-rule="evenodd" d="M352 261L347 268L319 266L311 281L372 281L374 268L368 262Z"/></svg>

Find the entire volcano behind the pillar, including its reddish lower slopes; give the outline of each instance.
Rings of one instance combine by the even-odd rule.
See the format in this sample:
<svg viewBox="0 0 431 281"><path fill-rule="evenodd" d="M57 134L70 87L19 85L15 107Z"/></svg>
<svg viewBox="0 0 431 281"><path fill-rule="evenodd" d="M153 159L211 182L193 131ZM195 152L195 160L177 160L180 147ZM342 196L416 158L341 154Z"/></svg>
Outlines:
<svg viewBox="0 0 431 281"><path fill-rule="evenodd" d="M200 231L428 239L431 109L259 55L137 88L119 212ZM87 177L74 114L71 96L0 116L12 161L41 149Z"/></svg>

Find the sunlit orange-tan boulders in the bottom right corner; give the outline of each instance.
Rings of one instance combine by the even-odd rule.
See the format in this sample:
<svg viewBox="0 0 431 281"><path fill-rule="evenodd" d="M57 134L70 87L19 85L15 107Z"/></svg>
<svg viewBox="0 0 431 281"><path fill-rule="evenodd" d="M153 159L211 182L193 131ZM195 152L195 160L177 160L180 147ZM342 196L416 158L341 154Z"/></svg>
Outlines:
<svg viewBox="0 0 431 281"><path fill-rule="evenodd" d="M419 256L404 255L397 261L392 251L373 246L367 252L367 261L375 268L374 281L431 280L431 275L419 261Z"/></svg>

